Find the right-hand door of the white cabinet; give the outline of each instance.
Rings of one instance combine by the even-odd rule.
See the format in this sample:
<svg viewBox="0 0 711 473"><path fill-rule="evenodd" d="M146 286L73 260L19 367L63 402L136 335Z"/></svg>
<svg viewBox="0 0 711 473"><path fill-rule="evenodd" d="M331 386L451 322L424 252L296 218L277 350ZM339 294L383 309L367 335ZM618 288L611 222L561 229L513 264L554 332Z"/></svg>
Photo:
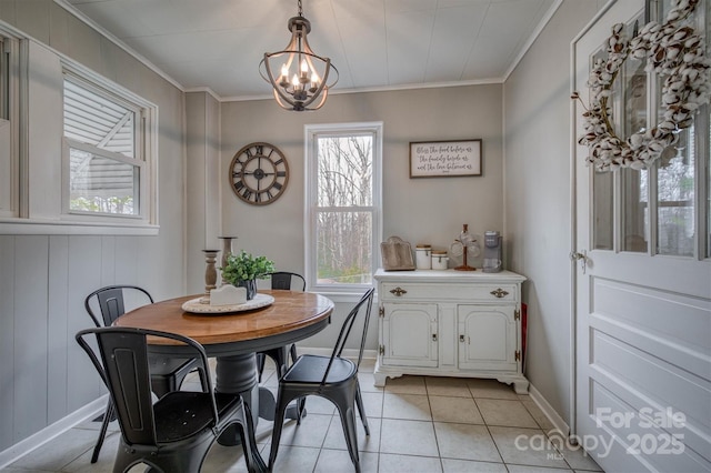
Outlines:
<svg viewBox="0 0 711 473"><path fill-rule="evenodd" d="M513 305L459 305L459 368L517 370L517 324Z"/></svg>

